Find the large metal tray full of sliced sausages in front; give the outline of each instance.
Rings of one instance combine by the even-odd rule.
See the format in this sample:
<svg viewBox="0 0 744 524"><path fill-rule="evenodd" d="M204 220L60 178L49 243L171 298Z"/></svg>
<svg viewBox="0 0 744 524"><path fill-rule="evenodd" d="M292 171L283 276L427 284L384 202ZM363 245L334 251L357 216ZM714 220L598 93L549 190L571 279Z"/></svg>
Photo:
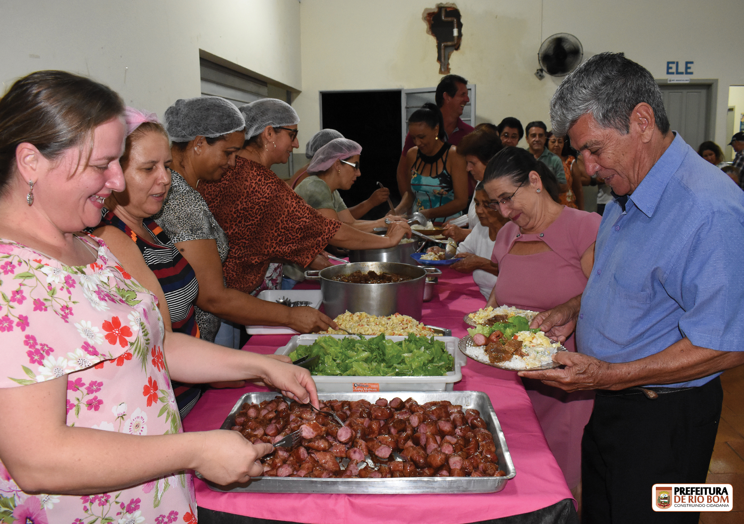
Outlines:
<svg viewBox="0 0 744 524"><path fill-rule="evenodd" d="M382 395L382 396L381 396ZM272 392L235 403L223 430L300 443L263 457L263 476L222 492L433 494L494 493L516 474L488 395L477 391L321 393L321 410ZM404 400L405 399L405 400Z"/></svg>

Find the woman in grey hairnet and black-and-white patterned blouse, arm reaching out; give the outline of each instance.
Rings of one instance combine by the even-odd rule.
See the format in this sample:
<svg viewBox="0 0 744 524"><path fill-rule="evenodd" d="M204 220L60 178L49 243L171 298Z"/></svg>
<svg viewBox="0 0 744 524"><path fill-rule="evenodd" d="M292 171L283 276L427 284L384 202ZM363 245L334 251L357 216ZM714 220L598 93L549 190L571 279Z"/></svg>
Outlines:
<svg viewBox="0 0 744 524"><path fill-rule="evenodd" d="M307 333L333 323L314 308L288 308L266 303L234 287L225 287L222 262L228 238L196 191L207 180L219 180L235 166L243 146L243 115L227 100L198 97L178 100L165 111L172 141L171 186L163 207L153 218L193 268L199 282L196 323L200 336L215 340L220 319L241 325L289 326ZM235 346L233 333L223 345Z"/></svg>

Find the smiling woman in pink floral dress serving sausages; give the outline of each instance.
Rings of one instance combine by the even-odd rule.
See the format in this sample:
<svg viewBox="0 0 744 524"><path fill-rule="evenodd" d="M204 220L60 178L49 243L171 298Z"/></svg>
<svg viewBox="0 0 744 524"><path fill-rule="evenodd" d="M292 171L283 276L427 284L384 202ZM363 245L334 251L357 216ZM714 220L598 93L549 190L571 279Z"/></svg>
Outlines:
<svg viewBox="0 0 744 524"><path fill-rule="evenodd" d="M170 375L263 381L317 405L304 369L166 331L155 296L103 241L74 233L124 189L123 110L109 88L61 71L0 100L4 523L192 524L190 470L222 484L260 474L270 444L183 433Z"/></svg>

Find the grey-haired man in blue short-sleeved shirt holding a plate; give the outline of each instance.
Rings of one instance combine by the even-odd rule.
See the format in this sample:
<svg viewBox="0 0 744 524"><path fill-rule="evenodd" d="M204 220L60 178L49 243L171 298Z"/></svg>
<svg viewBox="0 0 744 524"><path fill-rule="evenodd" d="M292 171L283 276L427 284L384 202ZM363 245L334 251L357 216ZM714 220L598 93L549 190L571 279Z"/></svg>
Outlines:
<svg viewBox="0 0 744 524"><path fill-rule="evenodd" d="M652 75L621 53L566 77L551 120L615 200L583 294L533 321L560 340L575 328L578 352L520 375L597 390L583 522L697 523L696 512L652 511L652 485L705 482L719 375L744 363L744 193L670 130Z"/></svg>

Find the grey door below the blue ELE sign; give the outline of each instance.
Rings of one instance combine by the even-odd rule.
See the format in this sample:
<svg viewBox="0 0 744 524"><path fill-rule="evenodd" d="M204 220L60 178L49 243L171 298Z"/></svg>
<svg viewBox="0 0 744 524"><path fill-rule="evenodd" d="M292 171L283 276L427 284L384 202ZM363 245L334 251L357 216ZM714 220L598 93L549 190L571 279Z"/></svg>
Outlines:
<svg viewBox="0 0 744 524"><path fill-rule="evenodd" d="M679 132L693 149L709 140L710 85L662 84L664 108L673 131Z"/></svg>

